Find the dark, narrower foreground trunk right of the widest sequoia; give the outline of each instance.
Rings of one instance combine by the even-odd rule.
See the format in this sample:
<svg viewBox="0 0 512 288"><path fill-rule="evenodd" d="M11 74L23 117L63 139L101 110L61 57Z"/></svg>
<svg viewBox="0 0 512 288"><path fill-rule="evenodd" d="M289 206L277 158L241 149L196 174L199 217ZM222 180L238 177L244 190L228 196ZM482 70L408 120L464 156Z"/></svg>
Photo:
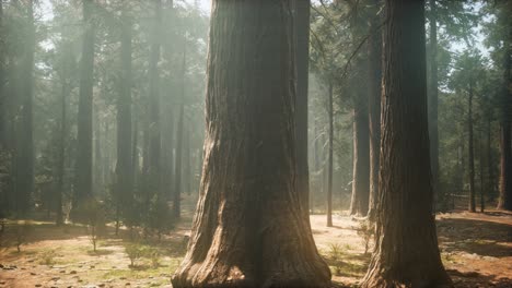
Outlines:
<svg viewBox="0 0 512 288"><path fill-rule="evenodd" d="M387 0L375 250L362 287L443 287L432 216L424 7Z"/></svg>

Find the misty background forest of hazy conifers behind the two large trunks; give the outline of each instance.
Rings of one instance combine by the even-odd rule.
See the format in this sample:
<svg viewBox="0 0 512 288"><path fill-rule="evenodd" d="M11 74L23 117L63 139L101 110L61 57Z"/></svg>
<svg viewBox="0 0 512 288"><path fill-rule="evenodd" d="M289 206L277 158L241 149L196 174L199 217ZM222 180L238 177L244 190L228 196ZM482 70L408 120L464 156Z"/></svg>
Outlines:
<svg viewBox="0 0 512 288"><path fill-rule="evenodd" d="M322 216L313 230L340 215L363 219L366 255L388 19L381 1L318 0L307 12L300 2L309 1L293 4L305 127L298 181L310 214ZM0 0L0 245L34 242L32 220L81 224L94 251L108 229L129 239L125 252L140 252L132 267L143 253L165 253L151 241L168 240L177 267L188 232L176 231L189 230L206 169L210 12L191 0ZM428 0L424 14L434 211L512 211L512 5ZM324 244L342 274L344 249ZM369 264L360 262L353 277Z"/></svg>

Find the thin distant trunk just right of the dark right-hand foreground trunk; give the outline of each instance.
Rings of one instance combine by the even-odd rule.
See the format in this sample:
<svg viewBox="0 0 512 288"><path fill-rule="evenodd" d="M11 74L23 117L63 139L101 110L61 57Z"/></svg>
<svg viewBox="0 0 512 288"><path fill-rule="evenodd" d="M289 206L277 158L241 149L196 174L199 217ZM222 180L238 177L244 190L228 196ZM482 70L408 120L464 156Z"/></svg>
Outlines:
<svg viewBox="0 0 512 288"><path fill-rule="evenodd" d="M444 211L444 194L439 188L439 129L438 129L438 12L437 0L430 0L430 82L429 82L429 137L430 137L430 163L432 166L432 189L434 193L434 205Z"/></svg>

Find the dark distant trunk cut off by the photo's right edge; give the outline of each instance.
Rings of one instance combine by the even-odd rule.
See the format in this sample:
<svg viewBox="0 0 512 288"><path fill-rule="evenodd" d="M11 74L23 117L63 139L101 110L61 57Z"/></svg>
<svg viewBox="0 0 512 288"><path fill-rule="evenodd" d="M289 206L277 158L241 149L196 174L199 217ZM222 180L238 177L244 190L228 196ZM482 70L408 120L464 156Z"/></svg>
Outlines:
<svg viewBox="0 0 512 288"><path fill-rule="evenodd" d="M509 9L512 5L509 4ZM504 8L505 9L505 8ZM508 12L511 12L509 10ZM510 13L504 15L510 16ZM508 22L510 23L510 21ZM510 24L509 24L510 25ZM500 197L498 208L512 211L512 25L507 27L503 61L502 115L500 121Z"/></svg>

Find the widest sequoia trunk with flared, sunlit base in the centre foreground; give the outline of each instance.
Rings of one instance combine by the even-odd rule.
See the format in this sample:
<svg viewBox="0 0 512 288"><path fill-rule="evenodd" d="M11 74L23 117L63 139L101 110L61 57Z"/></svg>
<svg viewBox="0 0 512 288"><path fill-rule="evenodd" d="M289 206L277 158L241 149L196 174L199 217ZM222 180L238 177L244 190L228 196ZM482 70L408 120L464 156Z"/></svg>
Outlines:
<svg viewBox="0 0 512 288"><path fill-rule="evenodd" d="M329 286L294 179L290 2L213 1L203 175L173 287Z"/></svg>

